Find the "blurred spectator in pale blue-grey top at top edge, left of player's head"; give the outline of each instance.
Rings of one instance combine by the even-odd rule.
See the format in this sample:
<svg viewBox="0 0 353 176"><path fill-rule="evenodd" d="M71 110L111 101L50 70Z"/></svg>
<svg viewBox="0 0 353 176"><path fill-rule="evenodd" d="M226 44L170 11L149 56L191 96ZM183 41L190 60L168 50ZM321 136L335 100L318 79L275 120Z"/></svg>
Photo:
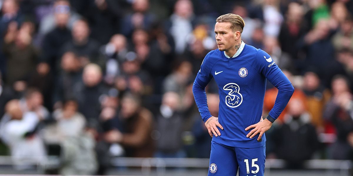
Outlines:
<svg viewBox="0 0 353 176"><path fill-rule="evenodd" d="M169 19L169 32L174 38L175 52L182 54L193 30L193 4L191 0L178 0L174 5L174 13Z"/></svg>

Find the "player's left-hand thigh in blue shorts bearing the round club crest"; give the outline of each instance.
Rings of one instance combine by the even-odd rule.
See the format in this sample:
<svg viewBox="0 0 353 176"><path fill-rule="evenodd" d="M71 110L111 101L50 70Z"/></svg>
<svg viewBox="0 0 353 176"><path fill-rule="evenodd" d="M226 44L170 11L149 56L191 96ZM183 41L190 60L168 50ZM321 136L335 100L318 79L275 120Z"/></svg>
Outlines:
<svg viewBox="0 0 353 176"><path fill-rule="evenodd" d="M237 171L238 161L234 147L212 141L208 176L236 176Z"/></svg>

